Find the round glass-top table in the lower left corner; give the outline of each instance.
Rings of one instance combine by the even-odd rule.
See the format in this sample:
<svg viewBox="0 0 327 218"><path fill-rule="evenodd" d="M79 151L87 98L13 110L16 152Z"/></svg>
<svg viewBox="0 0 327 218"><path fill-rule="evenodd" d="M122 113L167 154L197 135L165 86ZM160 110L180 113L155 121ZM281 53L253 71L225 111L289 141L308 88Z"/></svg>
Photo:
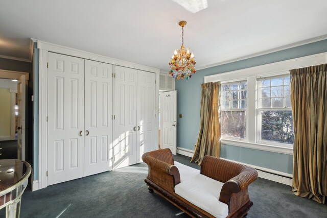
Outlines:
<svg viewBox="0 0 327 218"><path fill-rule="evenodd" d="M21 195L31 171L26 161L0 160L0 209L6 207L6 217L19 217Z"/></svg>

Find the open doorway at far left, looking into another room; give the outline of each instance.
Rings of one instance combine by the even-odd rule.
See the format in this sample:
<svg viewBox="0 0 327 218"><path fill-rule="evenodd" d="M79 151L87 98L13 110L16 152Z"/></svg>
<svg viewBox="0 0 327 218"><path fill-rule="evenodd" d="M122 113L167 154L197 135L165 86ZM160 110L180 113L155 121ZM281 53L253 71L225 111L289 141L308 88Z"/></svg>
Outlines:
<svg viewBox="0 0 327 218"><path fill-rule="evenodd" d="M0 159L25 160L28 74L0 70Z"/></svg>

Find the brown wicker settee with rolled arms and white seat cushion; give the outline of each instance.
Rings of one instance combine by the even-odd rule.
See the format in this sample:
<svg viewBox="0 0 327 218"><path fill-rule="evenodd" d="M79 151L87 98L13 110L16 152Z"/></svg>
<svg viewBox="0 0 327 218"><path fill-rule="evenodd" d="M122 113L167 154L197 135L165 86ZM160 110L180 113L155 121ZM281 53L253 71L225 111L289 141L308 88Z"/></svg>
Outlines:
<svg viewBox="0 0 327 218"><path fill-rule="evenodd" d="M248 210L253 205L247 187L258 178L258 173L252 167L205 156L199 171L174 162L169 149L145 153L142 159L149 167L149 173L145 179L149 192L155 190L159 195L192 217L243 217L247 215ZM207 180L208 182L206 182ZM206 184L197 184L201 181ZM218 186L215 186L216 183ZM191 187L189 187L190 185ZM192 187L194 185L196 187ZM183 188L184 192L182 191ZM206 188L206 190L201 188ZM180 194L177 190L181 190ZM200 193L193 193L199 190ZM205 201L208 202L205 203ZM206 209L207 205L214 207L216 212L217 210L225 211L218 211L217 215L217 213Z"/></svg>

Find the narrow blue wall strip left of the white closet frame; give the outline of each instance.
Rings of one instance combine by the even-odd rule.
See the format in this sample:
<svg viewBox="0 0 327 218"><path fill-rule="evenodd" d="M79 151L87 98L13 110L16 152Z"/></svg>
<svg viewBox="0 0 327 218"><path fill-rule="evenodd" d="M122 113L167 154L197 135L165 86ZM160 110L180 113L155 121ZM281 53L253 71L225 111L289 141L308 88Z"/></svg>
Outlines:
<svg viewBox="0 0 327 218"><path fill-rule="evenodd" d="M33 178L38 180L38 136L39 136L39 50L37 49L37 43L34 43L33 54L33 80L34 80L34 104L33 104Z"/></svg>

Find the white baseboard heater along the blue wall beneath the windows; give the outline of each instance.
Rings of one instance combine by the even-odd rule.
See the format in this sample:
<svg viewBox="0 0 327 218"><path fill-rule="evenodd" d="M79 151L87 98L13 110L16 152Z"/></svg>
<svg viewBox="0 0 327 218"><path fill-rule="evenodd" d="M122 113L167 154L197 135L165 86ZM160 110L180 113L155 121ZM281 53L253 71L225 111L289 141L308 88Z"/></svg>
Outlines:
<svg viewBox="0 0 327 218"><path fill-rule="evenodd" d="M184 148L180 148L177 147L177 154L181 154L187 157L193 157L193 153L194 151L189 150L189 149L184 149ZM222 158L225 159L225 158ZM225 160L229 160L229 159L225 159ZM253 168L256 169L256 171L258 171L258 176L260 178L263 179L268 179L274 182L279 182L285 185L292 185L292 174L288 174L288 173L284 173L284 172L280 172L280 171L275 171L274 169L269 169L269 168L265 168L265 167L261 167L261 166L255 166L255 165L251 165L251 164L247 164L247 163L242 163L239 161L235 161L235 160L229 160L232 162L236 162L236 163L241 163L244 165L248 165L251 166Z"/></svg>

